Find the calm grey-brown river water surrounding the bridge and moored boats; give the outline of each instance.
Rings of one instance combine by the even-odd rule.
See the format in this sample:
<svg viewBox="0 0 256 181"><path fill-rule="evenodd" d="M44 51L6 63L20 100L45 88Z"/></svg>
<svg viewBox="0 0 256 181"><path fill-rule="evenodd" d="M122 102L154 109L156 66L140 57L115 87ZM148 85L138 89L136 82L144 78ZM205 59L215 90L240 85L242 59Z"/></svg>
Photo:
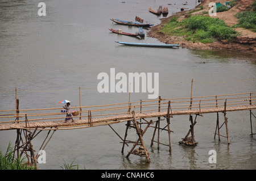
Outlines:
<svg viewBox="0 0 256 181"><path fill-rule="evenodd" d="M60 107L59 101L71 100L71 106L128 102L129 93L100 93L97 75L110 73L159 73L159 95L162 98L236 94L255 92L256 56L234 51L189 50L185 48L126 47L114 41L159 43L144 37L121 36L108 28L135 33L138 28L112 23L110 18L135 20L135 16L159 24L159 18L148 12L168 6L172 12L180 10L181 1L164 0L51 0L46 3L46 16L39 16L36 1L0 2L0 110L15 108L15 87L20 109ZM188 0L188 9L197 1ZM145 32L149 30L144 30ZM131 93L131 101L147 100L148 93ZM254 112L254 111L253 111ZM230 112L229 135L214 140L216 115L208 114L197 119L195 138L197 146L181 146L178 142L189 129L188 116L171 119L172 153L168 147L150 148L153 128L144 134L150 151L151 163L145 158L121 154L119 137L108 127L94 127L71 131L57 131L46 146L46 163L39 169L61 169L65 163L79 165L79 169L255 169L256 140L250 134L249 111ZM221 115L221 121L224 118ZM125 123L113 128L123 136ZM253 120L253 130L256 124ZM222 128L222 134L225 129ZM47 132L40 133L33 145L39 150ZM129 130L130 140L136 133ZM5 151L9 142L14 146L16 132L0 132L0 149ZM168 143L166 133L160 142ZM217 163L209 163L209 150L216 150Z"/></svg>

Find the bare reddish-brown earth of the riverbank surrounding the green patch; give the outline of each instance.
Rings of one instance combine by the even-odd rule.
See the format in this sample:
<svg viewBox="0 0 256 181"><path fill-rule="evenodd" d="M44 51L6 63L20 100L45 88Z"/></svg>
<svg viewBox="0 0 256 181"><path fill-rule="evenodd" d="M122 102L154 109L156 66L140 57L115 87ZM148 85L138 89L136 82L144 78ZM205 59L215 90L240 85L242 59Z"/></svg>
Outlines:
<svg viewBox="0 0 256 181"><path fill-rule="evenodd" d="M147 33L147 36L154 37L166 44L180 44L180 47L188 48L188 49L205 49L205 50L206 49L225 49L225 50L236 50L238 52L243 52L243 53L256 54L256 47L255 47L256 32L247 30L245 28L234 28L234 30L239 32L239 35L232 40L217 40L217 41L213 41L212 43L201 43L199 41L186 40L185 39L186 35L172 36L172 35L166 35L166 33L160 32L160 30L162 30L162 28L166 26L170 22L170 19L172 19L174 16L177 16L177 21L187 19L189 16L193 16L193 15L209 16L208 13L205 14L205 11L208 12L210 2L216 2L216 3L220 2L224 4L226 1L225 0L217 0L217 1L206 0L201 3L201 5L203 6L203 9L197 6L194 10L180 11L172 16L169 16L168 18L162 18L161 19L162 22L160 24L158 24L157 26L151 27L151 30ZM222 19L226 22L228 26L233 26L238 22L238 19L234 15L236 15L238 12L249 10L250 5L253 2L254 0L237 1L236 5L231 9L229 9L228 11L217 12L217 15L212 17ZM188 12L192 12L192 13L188 13Z"/></svg>

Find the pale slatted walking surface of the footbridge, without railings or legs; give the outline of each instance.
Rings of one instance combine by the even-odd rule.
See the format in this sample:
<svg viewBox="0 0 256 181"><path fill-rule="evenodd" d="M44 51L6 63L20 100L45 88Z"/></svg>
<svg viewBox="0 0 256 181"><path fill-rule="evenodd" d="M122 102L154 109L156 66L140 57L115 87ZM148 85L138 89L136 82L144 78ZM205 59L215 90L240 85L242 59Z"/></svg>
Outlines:
<svg viewBox="0 0 256 181"><path fill-rule="evenodd" d="M226 112L255 110L255 109L256 109L256 104L247 105L247 106L230 106L230 107L227 106ZM171 115L172 116L201 115L205 113L224 112L224 111L225 111L224 107L203 108L203 109L196 109L196 110L181 110L181 111L171 111L170 116ZM167 116L167 111L148 112L148 113L136 112L137 119L150 118L150 117L163 117L163 116ZM133 115L131 113L127 113L125 115L118 115L118 116L97 117L97 118L92 118L91 121L89 121L88 119L78 119L78 120L75 120L75 122L73 123L71 123L71 121L64 123L64 120L36 121L36 122L28 121L27 123L24 123L24 122L5 123L5 124L0 124L0 131L11 130L11 129L35 129L35 128L43 128L43 129L49 128L49 129L57 129L57 130L78 129L78 128L87 128L87 127L95 127L100 125L121 123L127 120L133 120Z"/></svg>

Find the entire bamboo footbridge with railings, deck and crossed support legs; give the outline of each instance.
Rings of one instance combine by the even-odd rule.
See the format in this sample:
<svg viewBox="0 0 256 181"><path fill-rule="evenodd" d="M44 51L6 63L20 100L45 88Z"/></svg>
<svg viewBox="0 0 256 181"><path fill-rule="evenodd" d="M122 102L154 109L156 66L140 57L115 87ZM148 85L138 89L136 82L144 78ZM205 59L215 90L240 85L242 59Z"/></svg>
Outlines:
<svg viewBox="0 0 256 181"><path fill-rule="evenodd" d="M109 127L115 132L115 130L111 127L111 124L126 122L126 131L123 138L117 132L115 132L122 140L122 153L124 146L128 146L128 144L132 143L134 144L133 148L128 151L126 157L129 157L130 154L135 154L141 157L146 157L147 162L150 162L147 148L144 145L143 134L147 131L147 128L153 127L154 134L152 136L151 146L154 144L154 142L157 142L159 149L159 144L162 144L159 142L159 130L167 131L169 144L162 145L168 146L171 152L172 131L170 129L170 119L173 116L189 115L189 120L191 121L189 131L183 140L179 142L180 144L196 144L193 127L196 124L196 117L203 116L205 113L217 113L214 138L216 135L218 136L219 140L220 136L226 137L229 144L228 118L226 117L226 112L250 111L250 135L253 136L255 133L253 133L251 121L254 114L251 112L251 110L256 109L255 97L256 93L247 92L241 94L192 97L191 90L191 97L189 98L163 99L159 96L159 99L156 100L140 100L138 102L117 103L100 106L82 107L80 105L79 107L72 107L72 109L75 110L75 112L73 112L73 119L75 121L68 121L67 123L64 121L66 113L60 111L63 108L19 110L19 99L16 99L15 110L0 110L0 131L15 129L17 136L14 151L16 151L17 156L20 154L20 157L24 153L28 159L28 163L30 163L31 160L31 163L36 166L39 154L35 154L31 141L42 131L48 131L48 137L51 131L53 134L57 130L82 129L109 125ZM226 126L225 136L220 134L220 128L222 127L222 125L220 127L218 118L218 113L220 112L224 113L225 121L222 125L225 124ZM195 115L194 120L192 115ZM161 117L164 117L164 119L161 119ZM153 118L156 119L153 121ZM150 119L150 121L147 119ZM160 128L160 122L163 121L167 125L164 128ZM143 129L142 125L145 125ZM138 140L134 142L126 140L127 130L129 128L134 128L136 130L139 136ZM154 141L156 131L158 131L158 141ZM46 147L47 143L52 137L52 134L48 138L48 141L46 137L40 150ZM191 134L190 137L189 134ZM140 146L139 148L135 149L137 145ZM28 151L30 151L30 154L28 154Z"/></svg>

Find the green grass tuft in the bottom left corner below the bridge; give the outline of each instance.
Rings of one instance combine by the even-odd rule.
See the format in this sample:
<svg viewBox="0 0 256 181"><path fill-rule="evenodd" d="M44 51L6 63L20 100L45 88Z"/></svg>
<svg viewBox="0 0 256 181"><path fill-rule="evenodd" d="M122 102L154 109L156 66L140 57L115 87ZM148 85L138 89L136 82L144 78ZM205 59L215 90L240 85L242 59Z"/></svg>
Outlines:
<svg viewBox="0 0 256 181"><path fill-rule="evenodd" d="M24 158L14 158L14 150L9 143L6 153L0 152L0 170L35 170L35 167L27 166Z"/></svg>

